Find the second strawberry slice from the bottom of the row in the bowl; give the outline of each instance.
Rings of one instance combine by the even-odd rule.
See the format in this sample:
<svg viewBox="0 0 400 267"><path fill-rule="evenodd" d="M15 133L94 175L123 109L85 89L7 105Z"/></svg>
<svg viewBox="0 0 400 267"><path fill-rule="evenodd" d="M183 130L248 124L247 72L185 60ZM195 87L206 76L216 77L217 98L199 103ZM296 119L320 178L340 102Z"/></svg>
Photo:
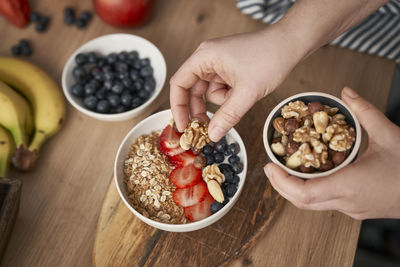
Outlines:
<svg viewBox="0 0 400 267"><path fill-rule="evenodd" d="M200 183L188 188L177 188L172 198L178 206L189 207L203 201L207 194L207 185L200 181Z"/></svg>

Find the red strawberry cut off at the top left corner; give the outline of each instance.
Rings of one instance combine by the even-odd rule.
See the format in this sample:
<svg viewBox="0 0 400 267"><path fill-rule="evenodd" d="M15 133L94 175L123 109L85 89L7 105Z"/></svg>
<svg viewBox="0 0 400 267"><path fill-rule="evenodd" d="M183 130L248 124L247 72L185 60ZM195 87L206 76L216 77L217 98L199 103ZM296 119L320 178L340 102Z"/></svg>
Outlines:
<svg viewBox="0 0 400 267"><path fill-rule="evenodd" d="M23 28L29 22L28 0L1 0L0 13L14 25Z"/></svg>

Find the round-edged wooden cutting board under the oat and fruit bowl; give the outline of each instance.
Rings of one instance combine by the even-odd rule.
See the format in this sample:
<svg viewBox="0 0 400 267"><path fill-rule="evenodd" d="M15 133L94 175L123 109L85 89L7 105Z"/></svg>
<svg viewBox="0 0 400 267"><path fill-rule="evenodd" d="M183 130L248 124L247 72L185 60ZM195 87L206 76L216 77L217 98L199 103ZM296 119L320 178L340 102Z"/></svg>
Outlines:
<svg viewBox="0 0 400 267"><path fill-rule="evenodd" d="M265 99L235 127L248 151L243 192L232 210L215 224L189 233L157 230L136 218L121 201L111 181L99 217L93 251L94 266L219 266L243 255L265 234L284 200L263 172L267 158L262 129L273 107ZM260 114L265 116L260 116Z"/></svg>

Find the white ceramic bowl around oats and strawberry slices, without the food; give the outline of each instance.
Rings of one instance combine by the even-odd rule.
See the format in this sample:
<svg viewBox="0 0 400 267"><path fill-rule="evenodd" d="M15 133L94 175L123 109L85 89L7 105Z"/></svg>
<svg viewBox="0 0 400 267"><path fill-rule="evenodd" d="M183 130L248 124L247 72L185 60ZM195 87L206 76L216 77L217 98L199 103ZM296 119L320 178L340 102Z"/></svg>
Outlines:
<svg viewBox="0 0 400 267"><path fill-rule="evenodd" d="M209 117L212 116L211 113L208 113L208 115ZM236 201L239 198L240 193L242 192L243 185L246 180L246 173L247 173L246 148L244 147L244 143L240 138L239 134L237 133L237 131L235 129L230 130L227 135L228 143L230 141L231 142L235 141L240 145L239 157L243 163L243 171L239 174L240 182L236 194L230 199L228 204L226 204L221 210L203 220L186 224L167 224L151 220L140 214L138 211L136 211L128 201L126 186L124 184L124 178L125 178L124 162L128 156L130 145L137 137L143 134L149 134L152 131L157 131L165 128L169 124L171 119L172 119L172 113L169 109L160 111L156 114L147 117L146 119L138 123L132 130L129 131L129 133L122 141L118 149L117 156L115 158L115 163L114 163L115 183L118 189L118 193L121 196L122 200L124 201L125 205L130 209L130 211L132 211L133 214L135 214L143 222L155 228L165 231L171 231L171 232L195 231L215 223L216 221L221 219L233 207L233 205L235 205Z"/></svg>

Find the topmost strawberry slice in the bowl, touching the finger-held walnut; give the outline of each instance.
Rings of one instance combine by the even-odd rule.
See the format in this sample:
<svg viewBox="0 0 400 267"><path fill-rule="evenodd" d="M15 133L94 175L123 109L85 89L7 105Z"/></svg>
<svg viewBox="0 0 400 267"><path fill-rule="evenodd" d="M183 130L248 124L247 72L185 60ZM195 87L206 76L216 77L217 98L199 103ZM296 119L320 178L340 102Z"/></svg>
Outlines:
<svg viewBox="0 0 400 267"><path fill-rule="evenodd" d="M176 132L171 125L168 125L164 128L163 132L160 135L158 148L161 153L166 156L175 156L182 152L185 152L183 148L181 148L179 144L179 138L182 134Z"/></svg>

